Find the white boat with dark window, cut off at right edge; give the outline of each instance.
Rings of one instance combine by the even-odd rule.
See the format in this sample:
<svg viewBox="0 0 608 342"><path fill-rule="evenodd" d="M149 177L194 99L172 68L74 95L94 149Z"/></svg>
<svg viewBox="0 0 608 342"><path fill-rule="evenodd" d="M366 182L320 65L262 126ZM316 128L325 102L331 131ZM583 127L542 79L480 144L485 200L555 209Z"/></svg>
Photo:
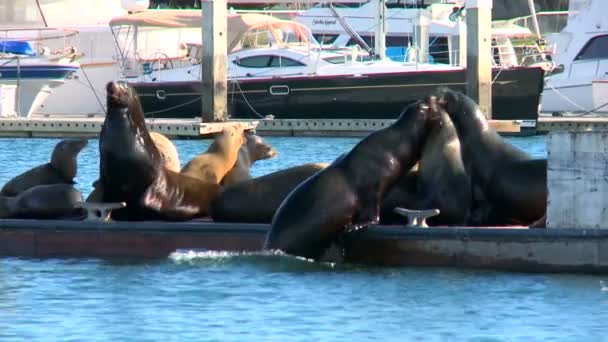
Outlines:
<svg viewBox="0 0 608 342"><path fill-rule="evenodd" d="M608 113L608 2L571 0L568 23L547 36L556 69L543 89L542 112Z"/></svg>

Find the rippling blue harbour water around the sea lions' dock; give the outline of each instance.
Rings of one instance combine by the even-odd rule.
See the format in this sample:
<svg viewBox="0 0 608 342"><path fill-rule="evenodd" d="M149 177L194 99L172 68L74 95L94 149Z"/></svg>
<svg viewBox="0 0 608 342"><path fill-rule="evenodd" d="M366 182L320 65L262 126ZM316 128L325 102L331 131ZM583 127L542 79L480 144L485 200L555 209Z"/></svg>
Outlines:
<svg viewBox="0 0 608 342"><path fill-rule="evenodd" d="M355 138L267 138L261 175L329 162ZM535 156L544 137L512 138ZM57 140L0 139L0 183ZM208 142L177 141L182 163ZM78 187L97 177L97 142ZM162 260L0 259L0 341L604 341L608 279L313 264L288 256L176 253Z"/></svg>

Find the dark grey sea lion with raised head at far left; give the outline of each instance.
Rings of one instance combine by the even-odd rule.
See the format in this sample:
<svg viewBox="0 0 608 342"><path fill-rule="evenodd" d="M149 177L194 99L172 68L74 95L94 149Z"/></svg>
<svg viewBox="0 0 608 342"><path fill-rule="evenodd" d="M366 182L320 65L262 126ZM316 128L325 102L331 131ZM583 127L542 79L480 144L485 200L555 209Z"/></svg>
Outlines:
<svg viewBox="0 0 608 342"><path fill-rule="evenodd" d="M0 193L17 196L23 191L43 184L74 184L78 171L78 153L87 145L86 139L64 139L55 145L51 161L32 168L8 181Z"/></svg>

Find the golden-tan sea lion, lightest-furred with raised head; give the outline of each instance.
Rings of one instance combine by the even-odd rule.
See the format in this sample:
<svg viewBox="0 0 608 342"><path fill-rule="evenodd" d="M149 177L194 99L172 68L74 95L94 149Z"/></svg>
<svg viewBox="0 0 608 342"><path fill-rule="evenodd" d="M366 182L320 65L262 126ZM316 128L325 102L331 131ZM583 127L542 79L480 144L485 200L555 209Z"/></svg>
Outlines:
<svg viewBox="0 0 608 342"><path fill-rule="evenodd" d="M205 153L190 160L181 173L207 182L219 184L234 167L245 134L240 125L225 127L209 145Z"/></svg>

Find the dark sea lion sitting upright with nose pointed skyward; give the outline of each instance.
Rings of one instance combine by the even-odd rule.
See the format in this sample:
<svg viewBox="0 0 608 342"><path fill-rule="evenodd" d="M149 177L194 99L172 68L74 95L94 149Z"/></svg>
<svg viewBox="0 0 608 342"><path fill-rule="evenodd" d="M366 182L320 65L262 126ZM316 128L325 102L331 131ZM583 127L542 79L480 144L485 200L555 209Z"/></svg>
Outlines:
<svg viewBox="0 0 608 342"><path fill-rule="evenodd" d="M163 166L152 142L141 103L125 84L109 82L107 114L99 135L103 202L125 202L112 212L117 220L187 220L207 215L218 184Z"/></svg>

